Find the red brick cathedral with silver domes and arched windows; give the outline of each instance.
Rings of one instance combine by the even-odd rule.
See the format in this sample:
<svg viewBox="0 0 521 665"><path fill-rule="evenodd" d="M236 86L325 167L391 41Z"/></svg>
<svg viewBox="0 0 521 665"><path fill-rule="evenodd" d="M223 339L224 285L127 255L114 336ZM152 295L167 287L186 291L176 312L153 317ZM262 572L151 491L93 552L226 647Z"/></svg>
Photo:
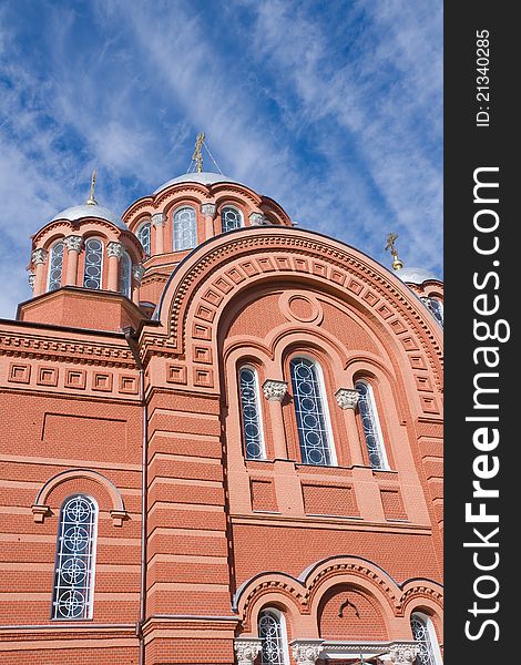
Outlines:
<svg viewBox="0 0 521 665"><path fill-rule="evenodd" d="M216 173L32 237L0 662L440 665L442 284Z"/></svg>

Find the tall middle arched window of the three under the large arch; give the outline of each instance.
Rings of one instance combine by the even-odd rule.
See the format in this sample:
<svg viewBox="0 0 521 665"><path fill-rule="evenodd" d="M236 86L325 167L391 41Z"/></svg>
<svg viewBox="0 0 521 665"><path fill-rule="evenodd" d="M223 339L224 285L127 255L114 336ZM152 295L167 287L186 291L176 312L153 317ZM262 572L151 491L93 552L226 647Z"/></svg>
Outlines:
<svg viewBox="0 0 521 665"><path fill-rule="evenodd" d="M296 357L289 365L300 456L305 464L335 464L319 366Z"/></svg>

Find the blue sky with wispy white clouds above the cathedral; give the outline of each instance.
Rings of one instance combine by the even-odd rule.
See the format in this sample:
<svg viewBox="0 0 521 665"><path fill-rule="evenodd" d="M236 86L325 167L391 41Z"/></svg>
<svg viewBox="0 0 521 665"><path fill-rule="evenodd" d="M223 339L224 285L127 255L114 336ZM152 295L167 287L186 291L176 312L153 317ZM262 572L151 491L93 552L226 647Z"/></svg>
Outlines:
<svg viewBox="0 0 521 665"><path fill-rule="evenodd" d="M0 0L0 317L94 166L121 214L200 131L302 226L441 276L440 0Z"/></svg>

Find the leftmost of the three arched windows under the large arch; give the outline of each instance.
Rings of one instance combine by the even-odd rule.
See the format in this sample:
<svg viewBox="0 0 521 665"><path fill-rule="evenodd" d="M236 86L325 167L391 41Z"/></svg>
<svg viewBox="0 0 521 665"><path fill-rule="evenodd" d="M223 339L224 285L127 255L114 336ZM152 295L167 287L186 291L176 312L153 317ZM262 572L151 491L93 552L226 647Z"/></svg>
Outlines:
<svg viewBox="0 0 521 665"><path fill-rule="evenodd" d="M264 460L263 424L257 372L248 365L238 371L243 444L247 460Z"/></svg>

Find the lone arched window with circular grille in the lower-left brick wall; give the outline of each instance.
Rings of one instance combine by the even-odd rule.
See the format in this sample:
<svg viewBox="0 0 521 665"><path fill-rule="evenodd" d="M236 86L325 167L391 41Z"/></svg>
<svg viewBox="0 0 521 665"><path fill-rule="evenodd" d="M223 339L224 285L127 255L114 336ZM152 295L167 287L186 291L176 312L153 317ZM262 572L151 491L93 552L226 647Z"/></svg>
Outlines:
<svg viewBox="0 0 521 665"><path fill-rule="evenodd" d="M81 494L60 512L52 618L91 618L98 508Z"/></svg>

